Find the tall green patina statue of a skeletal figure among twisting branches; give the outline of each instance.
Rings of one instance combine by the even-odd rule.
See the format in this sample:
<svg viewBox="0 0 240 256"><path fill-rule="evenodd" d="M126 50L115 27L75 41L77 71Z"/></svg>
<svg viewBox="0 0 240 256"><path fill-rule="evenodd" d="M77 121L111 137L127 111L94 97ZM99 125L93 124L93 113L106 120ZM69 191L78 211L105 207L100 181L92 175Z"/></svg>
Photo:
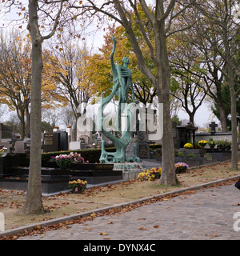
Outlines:
<svg viewBox="0 0 240 256"><path fill-rule="evenodd" d="M105 142L102 140L102 154L100 157L100 162L102 163L118 163L118 162L140 162L140 159L136 156L136 150L134 149L134 155L132 158L126 159L126 146L130 142L131 134L130 131L130 122L132 115L130 113L130 108L135 103L134 98L134 89L133 89L133 82L132 82L132 72L127 67L129 64L129 58L125 57L122 59L123 66L114 64L114 52L116 49L116 40L114 38L114 35L112 36L114 46L113 51L110 55L110 61L111 61L111 69L114 75L114 86L112 89L111 94L104 98L101 95L101 106L98 110L98 130L102 131L102 134L106 136L106 138L109 138L111 142L114 143L114 146L116 147L116 152L106 152L105 150ZM126 104L128 100L128 92L129 90L132 91L132 102L130 104ZM106 105L111 101L114 96L118 96L118 132L121 134L121 138L117 138L114 136L114 134L110 133L110 131L107 131L103 127L103 123L105 122L105 119L103 117L103 110L106 107ZM123 107L124 106L124 107ZM122 130L122 114L126 117L126 125L124 127L124 130Z"/></svg>

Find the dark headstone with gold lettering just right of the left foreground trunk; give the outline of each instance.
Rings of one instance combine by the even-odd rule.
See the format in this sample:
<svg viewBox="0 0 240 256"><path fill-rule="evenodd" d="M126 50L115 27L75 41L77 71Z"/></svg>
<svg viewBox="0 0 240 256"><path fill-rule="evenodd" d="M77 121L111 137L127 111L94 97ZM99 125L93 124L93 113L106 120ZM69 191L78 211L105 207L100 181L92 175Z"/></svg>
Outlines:
<svg viewBox="0 0 240 256"><path fill-rule="evenodd" d="M59 133L49 133L44 134L43 152L56 152L60 150L60 134Z"/></svg>

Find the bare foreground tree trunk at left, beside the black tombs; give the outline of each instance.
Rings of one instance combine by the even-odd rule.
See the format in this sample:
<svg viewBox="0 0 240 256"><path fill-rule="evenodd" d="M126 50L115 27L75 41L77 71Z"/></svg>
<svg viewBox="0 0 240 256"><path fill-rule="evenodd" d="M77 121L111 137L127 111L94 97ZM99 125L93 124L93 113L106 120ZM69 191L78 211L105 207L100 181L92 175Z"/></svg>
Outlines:
<svg viewBox="0 0 240 256"><path fill-rule="evenodd" d="M32 39L32 79L30 111L30 170L27 187L25 214L43 211L41 182L41 82L42 82L42 37L38 30L38 1L29 1L29 26Z"/></svg>

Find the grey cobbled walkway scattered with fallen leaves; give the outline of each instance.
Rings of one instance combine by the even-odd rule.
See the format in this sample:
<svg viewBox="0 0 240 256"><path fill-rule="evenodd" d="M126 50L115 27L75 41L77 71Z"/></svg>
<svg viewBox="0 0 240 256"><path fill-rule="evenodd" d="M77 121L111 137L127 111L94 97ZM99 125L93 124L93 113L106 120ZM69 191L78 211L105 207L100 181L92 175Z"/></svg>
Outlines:
<svg viewBox="0 0 240 256"><path fill-rule="evenodd" d="M238 219L234 219L235 213L239 213ZM240 229L240 190L230 185L18 240L239 240L234 222Z"/></svg>

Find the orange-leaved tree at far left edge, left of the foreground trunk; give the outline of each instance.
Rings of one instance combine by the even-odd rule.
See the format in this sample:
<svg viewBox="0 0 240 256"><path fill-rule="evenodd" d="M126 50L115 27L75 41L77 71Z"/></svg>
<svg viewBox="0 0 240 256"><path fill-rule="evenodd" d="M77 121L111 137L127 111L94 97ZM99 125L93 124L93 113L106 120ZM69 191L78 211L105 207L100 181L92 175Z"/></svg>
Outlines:
<svg viewBox="0 0 240 256"><path fill-rule="evenodd" d="M0 63L0 97L16 110L24 138L30 134L31 56L30 43L16 30L1 33Z"/></svg>

